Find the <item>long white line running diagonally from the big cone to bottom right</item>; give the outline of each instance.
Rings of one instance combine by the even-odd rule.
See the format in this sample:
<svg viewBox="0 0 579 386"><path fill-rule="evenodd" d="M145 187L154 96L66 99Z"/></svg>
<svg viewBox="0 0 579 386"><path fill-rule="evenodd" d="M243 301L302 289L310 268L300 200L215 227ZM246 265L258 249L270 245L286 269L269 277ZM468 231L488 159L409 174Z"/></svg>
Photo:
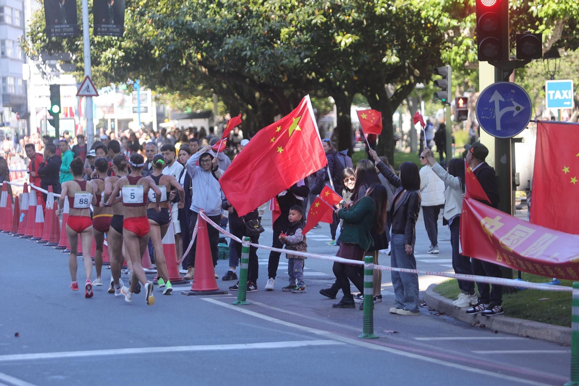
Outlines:
<svg viewBox="0 0 579 386"><path fill-rule="evenodd" d="M255 316L256 318L263 319L263 320L268 321L268 322L277 323L277 324L287 326L287 327L293 327L293 328L298 329L298 330L303 330L303 331L306 331L306 332L309 332L312 334L324 336L325 338L337 340L337 341L340 341L342 343L353 344L353 345L357 345L359 347L370 348L370 349L374 349L374 350L378 350L378 351L386 351L386 352L390 352L391 354L402 355L402 356L406 356L408 358L421 359L421 360L424 360L426 362L436 363L438 365L448 366L448 367L452 367L454 369L464 370L466 372L481 374L482 376L485 376L485 377L496 377L496 378L500 378L501 380L511 380L511 381L516 381L519 383L528 384L528 385L536 385L536 386L547 386L548 385L545 383L540 383L540 382L536 382L536 381L532 381L532 380L526 380L525 378L518 378L515 376L509 376L509 375L500 374L500 373L492 373L492 372L489 372L488 370L475 369L474 367L459 365L458 363L446 362L445 360L442 360L442 359L430 358L430 356L413 354L412 352L406 352L406 351L402 351L402 350L395 349L395 348L384 347L384 346L378 345L378 344L367 343L367 342L362 341L362 340L343 337L343 336L340 336L338 334L334 334L334 333L324 331L324 330L314 329L312 327L296 325L295 323L285 322L285 321L282 321L281 319L272 318L272 316L259 314L259 312L254 312L254 311L250 311L248 309L236 307L232 304L226 304L226 303L223 303L217 299L205 297L205 298L203 298L203 300L208 301L208 302L213 303L213 304L221 305L221 307L233 309L237 312L242 312L243 314Z"/></svg>

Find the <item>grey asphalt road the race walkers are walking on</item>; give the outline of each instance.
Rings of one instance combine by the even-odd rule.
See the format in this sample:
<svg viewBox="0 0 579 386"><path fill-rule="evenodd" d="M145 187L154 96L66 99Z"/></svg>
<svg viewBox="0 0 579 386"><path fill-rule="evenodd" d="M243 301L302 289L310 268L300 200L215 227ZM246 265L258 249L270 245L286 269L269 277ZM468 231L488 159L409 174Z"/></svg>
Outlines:
<svg viewBox="0 0 579 386"><path fill-rule="evenodd" d="M261 242L271 245L270 220ZM329 227L309 235L310 252L334 254ZM441 253L428 255L422 218L417 226L419 269L452 271L449 232L440 225ZM569 380L570 347L471 327L427 308L420 316L388 313L394 303L383 276L375 307L375 340L358 339L362 311L334 309L318 290L333 281L329 261L306 261L308 292L281 292L287 262L280 260L276 290L265 292L266 250L259 250L259 291L251 305L232 305L235 294L171 296L155 289L126 303L95 287L85 299L68 285L68 255L0 235L4 283L0 296L0 385L143 383L198 385L390 384L555 385ZM380 263L388 265L385 254ZM225 273L228 262L219 260ZM79 264L82 267L82 264ZM104 270L103 281L110 271ZM79 270L79 282L83 274ZM126 279L126 276L123 275ZM152 278L152 275L151 275ZM420 277L424 290L442 278ZM232 282L218 285L226 289ZM508 309L505 310L508 315ZM17 336L16 336L17 335ZM508 351L508 352L506 352Z"/></svg>

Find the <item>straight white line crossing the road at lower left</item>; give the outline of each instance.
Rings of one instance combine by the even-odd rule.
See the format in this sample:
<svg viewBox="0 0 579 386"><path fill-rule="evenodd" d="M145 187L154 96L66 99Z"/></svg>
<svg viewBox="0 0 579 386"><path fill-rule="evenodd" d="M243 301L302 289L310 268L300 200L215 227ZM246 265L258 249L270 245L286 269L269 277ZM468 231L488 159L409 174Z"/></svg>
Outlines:
<svg viewBox="0 0 579 386"><path fill-rule="evenodd" d="M222 351L222 350L250 349L250 348L291 348L291 347L305 347L305 346L327 346L336 344L343 344L343 343L336 340L290 340L281 342L262 342L262 343L208 344L208 345L173 346L173 347L134 347L134 348L113 348L113 349L86 350L86 351L38 352L32 354L0 355L0 363L13 362L15 360L84 358L87 356L126 355L126 354L158 354L159 352ZM0 380L2 380L1 375ZM24 385L25 384L22 384L22 386Z"/></svg>

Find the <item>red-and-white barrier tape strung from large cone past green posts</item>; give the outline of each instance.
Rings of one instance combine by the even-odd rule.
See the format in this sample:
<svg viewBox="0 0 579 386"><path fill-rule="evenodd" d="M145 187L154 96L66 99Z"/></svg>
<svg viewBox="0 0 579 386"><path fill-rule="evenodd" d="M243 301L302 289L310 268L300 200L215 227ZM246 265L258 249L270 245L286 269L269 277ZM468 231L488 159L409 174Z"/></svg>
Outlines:
<svg viewBox="0 0 579 386"><path fill-rule="evenodd" d="M223 230L223 228L219 227L219 225L217 225L213 221L211 221L209 219L209 217L206 216L206 214L203 214L203 213L199 213L199 214L201 215L201 217L203 217L203 219L205 221L207 221L207 223L209 223L213 227L217 228L217 230L219 230L223 234L229 235L235 241L241 242L241 240L239 238L237 238L236 236ZM287 250L285 250L285 249L274 248L274 247L260 245L260 244L254 244L254 243L251 243L251 245L254 247L258 247L258 248L262 248L262 249L266 249L266 250L273 250L274 252L287 253ZM336 261L338 263L349 264L349 265L360 265L360 266L364 265L364 261L350 260L349 258L342 258L342 257L337 257L337 256L328 256L325 254L297 252L295 250L292 250L291 254L295 254L297 256L302 256L302 257L319 258L320 260ZM524 288L538 289L538 290L544 290L544 291L560 291L560 292L573 291L572 287L567 287L567 286L554 286L554 285L549 285L549 284L544 284L544 283L531 283L531 282L519 281L519 280L514 280L514 279L491 278L489 276L451 274L450 272L409 270L407 268L388 267L386 265L374 265L374 268L376 270L406 272L408 274L444 276L446 278L467 280L467 281L479 282L479 283L490 283L490 284L496 284L496 285L502 285L502 286L508 286L508 287L524 287Z"/></svg>

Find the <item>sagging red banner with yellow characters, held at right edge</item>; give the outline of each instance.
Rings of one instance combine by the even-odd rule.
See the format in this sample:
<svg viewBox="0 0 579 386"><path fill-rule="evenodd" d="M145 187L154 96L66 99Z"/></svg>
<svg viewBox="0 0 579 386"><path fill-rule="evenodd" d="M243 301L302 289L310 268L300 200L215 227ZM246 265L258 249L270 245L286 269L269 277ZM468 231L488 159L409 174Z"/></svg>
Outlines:
<svg viewBox="0 0 579 386"><path fill-rule="evenodd" d="M471 198L460 218L462 254L530 274L579 279L579 235L517 219Z"/></svg>

